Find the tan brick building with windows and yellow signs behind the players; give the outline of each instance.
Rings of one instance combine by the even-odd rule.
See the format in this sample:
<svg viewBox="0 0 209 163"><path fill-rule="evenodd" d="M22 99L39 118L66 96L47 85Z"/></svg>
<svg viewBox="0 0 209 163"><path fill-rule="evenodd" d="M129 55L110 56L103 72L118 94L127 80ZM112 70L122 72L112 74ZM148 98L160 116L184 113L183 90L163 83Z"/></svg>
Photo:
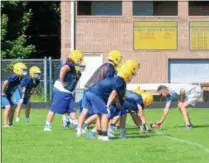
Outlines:
<svg viewBox="0 0 209 163"><path fill-rule="evenodd" d="M61 2L63 59L72 45L71 3ZM112 49L121 50L125 60L137 59L141 70L132 83L209 82L209 2L79 1L74 3L74 7L75 48L91 55L103 54L102 62L106 61L105 54ZM176 23L173 31L176 38L172 33L169 36L176 39L176 45L166 48L170 42L162 40L162 46L168 44L164 49L149 46L143 49L144 45L135 48L135 42L138 43L134 38L134 23L156 24L156 21ZM196 25L191 22L196 22ZM146 30L152 28L155 25L146 27ZM161 42L160 37L156 33L158 42Z"/></svg>

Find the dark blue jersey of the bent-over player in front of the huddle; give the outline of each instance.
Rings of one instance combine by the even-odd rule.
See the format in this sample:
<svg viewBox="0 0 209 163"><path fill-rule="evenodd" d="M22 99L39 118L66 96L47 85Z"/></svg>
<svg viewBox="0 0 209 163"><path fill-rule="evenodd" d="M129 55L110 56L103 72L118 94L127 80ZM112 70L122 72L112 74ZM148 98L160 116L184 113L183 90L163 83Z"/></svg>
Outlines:
<svg viewBox="0 0 209 163"><path fill-rule="evenodd" d="M106 78L94 84L89 91L99 96L106 103L110 96L110 93L115 90L118 93L121 104L124 101L126 82L123 78L116 76L114 78Z"/></svg>

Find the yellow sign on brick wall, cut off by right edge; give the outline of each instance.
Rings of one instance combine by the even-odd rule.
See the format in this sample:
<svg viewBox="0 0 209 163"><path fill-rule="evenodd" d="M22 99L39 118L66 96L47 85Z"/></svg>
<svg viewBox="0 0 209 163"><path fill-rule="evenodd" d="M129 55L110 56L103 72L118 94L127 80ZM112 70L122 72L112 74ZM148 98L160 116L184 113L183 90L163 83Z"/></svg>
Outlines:
<svg viewBox="0 0 209 163"><path fill-rule="evenodd" d="M190 49L209 50L209 22L190 22Z"/></svg>

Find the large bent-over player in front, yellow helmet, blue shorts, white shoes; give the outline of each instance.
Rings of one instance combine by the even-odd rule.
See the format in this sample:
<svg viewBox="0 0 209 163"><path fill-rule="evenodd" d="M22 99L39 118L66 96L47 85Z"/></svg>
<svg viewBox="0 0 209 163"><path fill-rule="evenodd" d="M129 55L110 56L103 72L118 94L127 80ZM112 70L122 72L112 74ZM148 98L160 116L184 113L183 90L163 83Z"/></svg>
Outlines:
<svg viewBox="0 0 209 163"><path fill-rule="evenodd" d="M108 141L108 114L110 113L110 105L116 100L117 107L123 104L126 90L126 82L132 78L132 71L128 66L123 66L118 75L113 78L107 78L97 82L90 87L84 94L82 107L84 108L80 117L77 128L77 136L81 136L82 125L88 113L88 109L92 109L100 122L101 130L98 130L98 139Z"/></svg>

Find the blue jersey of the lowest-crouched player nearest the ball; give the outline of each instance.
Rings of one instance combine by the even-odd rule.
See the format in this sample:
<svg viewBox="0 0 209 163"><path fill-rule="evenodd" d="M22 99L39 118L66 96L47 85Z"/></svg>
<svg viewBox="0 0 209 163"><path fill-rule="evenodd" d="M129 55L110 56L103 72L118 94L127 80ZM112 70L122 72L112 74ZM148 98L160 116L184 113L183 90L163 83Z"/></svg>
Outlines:
<svg viewBox="0 0 209 163"><path fill-rule="evenodd" d="M125 110L138 111L137 105L140 105L144 109L142 96L133 91L126 91L126 98L122 107Z"/></svg>

